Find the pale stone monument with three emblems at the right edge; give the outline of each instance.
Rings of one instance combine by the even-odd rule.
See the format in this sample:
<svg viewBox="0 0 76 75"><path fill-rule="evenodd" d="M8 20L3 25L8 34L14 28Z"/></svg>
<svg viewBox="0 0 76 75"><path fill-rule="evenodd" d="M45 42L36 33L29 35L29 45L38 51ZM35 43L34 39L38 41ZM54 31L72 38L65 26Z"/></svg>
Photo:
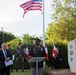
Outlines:
<svg viewBox="0 0 76 75"><path fill-rule="evenodd" d="M68 63L71 72L76 72L76 39L68 44Z"/></svg>

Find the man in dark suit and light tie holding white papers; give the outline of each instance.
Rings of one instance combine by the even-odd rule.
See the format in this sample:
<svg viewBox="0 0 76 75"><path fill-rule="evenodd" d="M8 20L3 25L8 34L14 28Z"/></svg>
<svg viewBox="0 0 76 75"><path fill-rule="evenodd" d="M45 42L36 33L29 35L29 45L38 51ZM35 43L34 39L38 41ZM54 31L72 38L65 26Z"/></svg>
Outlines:
<svg viewBox="0 0 76 75"><path fill-rule="evenodd" d="M6 50L6 44L3 43L0 50L0 75L10 75L10 66L6 66L5 61L8 62L11 59L12 55Z"/></svg>

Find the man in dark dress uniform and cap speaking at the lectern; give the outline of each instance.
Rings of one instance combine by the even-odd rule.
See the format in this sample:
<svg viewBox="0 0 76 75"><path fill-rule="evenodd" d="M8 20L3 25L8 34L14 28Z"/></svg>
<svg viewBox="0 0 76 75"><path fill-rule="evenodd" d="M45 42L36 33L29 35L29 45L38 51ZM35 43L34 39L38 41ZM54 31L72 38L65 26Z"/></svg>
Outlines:
<svg viewBox="0 0 76 75"><path fill-rule="evenodd" d="M45 48L40 45L40 39L39 38L35 38L35 44L31 47L30 51L29 51L29 55L31 57L45 57L46 53L45 53ZM43 75L43 62L41 61L38 63L38 75ZM36 75L36 63L32 62L31 63L31 74L32 75Z"/></svg>

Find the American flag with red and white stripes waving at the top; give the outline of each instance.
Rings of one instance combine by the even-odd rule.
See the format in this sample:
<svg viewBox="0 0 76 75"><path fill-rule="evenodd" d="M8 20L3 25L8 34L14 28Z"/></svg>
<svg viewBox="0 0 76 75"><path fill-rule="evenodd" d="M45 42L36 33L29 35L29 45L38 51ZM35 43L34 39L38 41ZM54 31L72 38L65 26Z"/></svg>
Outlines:
<svg viewBox="0 0 76 75"><path fill-rule="evenodd" d="M20 5L24 9L24 14L30 10L40 10L42 11L42 0L30 0Z"/></svg>

